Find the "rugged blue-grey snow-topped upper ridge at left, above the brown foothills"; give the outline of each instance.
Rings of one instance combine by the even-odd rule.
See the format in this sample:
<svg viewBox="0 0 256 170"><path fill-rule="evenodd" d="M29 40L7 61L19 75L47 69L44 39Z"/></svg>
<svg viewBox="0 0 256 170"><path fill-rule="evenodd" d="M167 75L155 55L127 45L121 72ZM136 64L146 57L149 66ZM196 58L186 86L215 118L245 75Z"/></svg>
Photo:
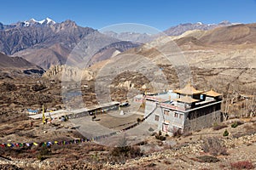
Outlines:
<svg viewBox="0 0 256 170"><path fill-rule="evenodd" d="M42 24L28 20L6 27L8 29L0 31L0 50L4 54L15 54L34 46L37 48L49 47L55 43L73 48L84 36L96 31L89 27L77 26L72 20Z"/></svg>

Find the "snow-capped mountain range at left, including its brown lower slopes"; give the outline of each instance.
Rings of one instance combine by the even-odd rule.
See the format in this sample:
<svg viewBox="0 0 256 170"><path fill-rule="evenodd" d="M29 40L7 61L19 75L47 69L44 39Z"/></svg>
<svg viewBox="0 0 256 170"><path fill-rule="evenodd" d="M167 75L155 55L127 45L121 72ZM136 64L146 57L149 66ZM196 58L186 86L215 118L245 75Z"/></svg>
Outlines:
<svg viewBox="0 0 256 170"><path fill-rule="evenodd" d="M92 28L78 26L72 20L55 23L48 18L42 21L32 19L12 25L1 24L0 28L2 53L23 57L46 70L51 65L64 65L73 48L89 35L90 41L100 38L102 42L109 42L108 45L115 43L112 47L119 51L137 47L137 44L122 42L113 37L104 36ZM97 58L96 60L102 60L101 56Z"/></svg>

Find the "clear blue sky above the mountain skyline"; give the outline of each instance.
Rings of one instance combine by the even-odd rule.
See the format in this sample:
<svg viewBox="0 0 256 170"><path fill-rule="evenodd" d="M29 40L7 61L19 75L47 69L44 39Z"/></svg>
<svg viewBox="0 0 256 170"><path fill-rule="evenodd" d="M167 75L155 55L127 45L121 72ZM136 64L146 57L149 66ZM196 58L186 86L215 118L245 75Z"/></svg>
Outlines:
<svg viewBox="0 0 256 170"><path fill-rule="evenodd" d="M79 26L101 29L137 23L166 30L180 23L211 24L222 20L256 22L256 0L1 0L0 22L74 20Z"/></svg>

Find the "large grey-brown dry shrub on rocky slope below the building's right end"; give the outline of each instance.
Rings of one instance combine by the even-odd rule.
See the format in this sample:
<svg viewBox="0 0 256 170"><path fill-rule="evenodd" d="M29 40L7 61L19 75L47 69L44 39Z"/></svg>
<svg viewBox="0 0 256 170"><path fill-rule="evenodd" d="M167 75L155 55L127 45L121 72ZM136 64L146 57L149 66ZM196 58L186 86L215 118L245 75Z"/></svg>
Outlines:
<svg viewBox="0 0 256 170"><path fill-rule="evenodd" d="M204 152L210 153L212 156L228 155L226 148L217 137L205 139L201 147Z"/></svg>

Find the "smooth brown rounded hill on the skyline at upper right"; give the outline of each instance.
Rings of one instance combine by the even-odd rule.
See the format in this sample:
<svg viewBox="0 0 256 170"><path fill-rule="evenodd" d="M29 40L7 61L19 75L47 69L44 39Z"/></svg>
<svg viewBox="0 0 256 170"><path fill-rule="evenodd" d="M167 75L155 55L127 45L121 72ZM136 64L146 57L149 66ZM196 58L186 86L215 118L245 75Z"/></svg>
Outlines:
<svg viewBox="0 0 256 170"><path fill-rule="evenodd" d="M172 37L177 45L241 45L256 43L256 24L236 24L221 26L208 31L186 31L180 36Z"/></svg>

